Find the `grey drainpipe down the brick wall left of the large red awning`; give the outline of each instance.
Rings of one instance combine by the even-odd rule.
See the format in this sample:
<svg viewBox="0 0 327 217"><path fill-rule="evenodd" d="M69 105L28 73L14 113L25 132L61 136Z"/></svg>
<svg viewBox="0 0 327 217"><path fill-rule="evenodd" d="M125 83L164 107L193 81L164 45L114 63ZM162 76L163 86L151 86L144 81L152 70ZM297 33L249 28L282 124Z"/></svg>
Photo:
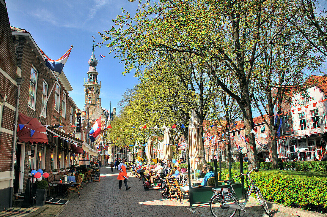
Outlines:
<svg viewBox="0 0 327 217"><path fill-rule="evenodd" d="M12 146L12 162L11 162L11 172L10 172L10 205L12 207L12 197L14 192L14 167L15 167L15 155L16 155L16 140L17 140L17 124L18 124L18 107L19 107L19 97L20 97L20 87L23 83L23 78L16 78L18 90L17 90L17 102L16 102L16 114L15 114L15 125L14 125L14 141Z"/></svg>

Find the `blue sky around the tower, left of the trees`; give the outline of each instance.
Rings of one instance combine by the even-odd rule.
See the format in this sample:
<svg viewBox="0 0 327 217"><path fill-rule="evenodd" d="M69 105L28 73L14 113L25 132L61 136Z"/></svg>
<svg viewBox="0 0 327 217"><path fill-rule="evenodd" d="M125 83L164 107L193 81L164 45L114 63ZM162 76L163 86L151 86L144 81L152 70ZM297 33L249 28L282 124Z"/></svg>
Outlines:
<svg viewBox="0 0 327 217"><path fill-rule="evenodd" d="M49 58L60 58L74 45L63 71L74 89L69 95L80 109L84 106L83 82L89 70L92 36L95 35L95 43L101 42L98 32L110 30L112 19L121 14L121 8L134 15L137 3L128 0L6 1L10 25L30 32ZM95 48L97 59L99 54L106 56L96 69L98 82L101 81L101 105L107 109L110 101L112 107L116 107L124 91L138 83L133 74L122 75L124 66L108 52L107 47Z"/></svg>

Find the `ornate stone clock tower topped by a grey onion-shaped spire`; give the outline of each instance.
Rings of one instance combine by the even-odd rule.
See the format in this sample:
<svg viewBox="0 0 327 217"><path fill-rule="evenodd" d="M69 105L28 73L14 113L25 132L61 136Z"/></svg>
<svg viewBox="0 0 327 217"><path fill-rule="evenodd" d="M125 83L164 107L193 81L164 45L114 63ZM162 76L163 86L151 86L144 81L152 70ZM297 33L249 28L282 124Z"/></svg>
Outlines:
<svg viewBox="0 0 327 217"><path fill-rule="evenodd" d="M89 59L90 69L87 72L87 82L85 82L84 78L84 92L85 92L85 103L90 104L90 106L96 106L97 103L101 103L100 96L100 84L98 83L98 72L96 71L96 65L98 61L94 55L94 40L93 40L93 52L91 58Z"/></svg>

